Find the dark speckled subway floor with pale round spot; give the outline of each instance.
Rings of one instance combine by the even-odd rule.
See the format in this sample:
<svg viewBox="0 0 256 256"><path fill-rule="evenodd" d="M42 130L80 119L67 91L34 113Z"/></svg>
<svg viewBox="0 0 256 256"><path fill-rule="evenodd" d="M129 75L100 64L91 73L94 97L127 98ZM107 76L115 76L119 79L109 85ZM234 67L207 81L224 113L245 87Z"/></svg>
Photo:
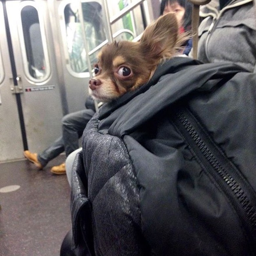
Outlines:
<svg viewBox="0 0 256 256"><path fill-rule="evenodd" d="M59 255L71 229L70 186L50 169L63 161L60 155L41 171L28 160L0 162L0 256Z"/></svg>

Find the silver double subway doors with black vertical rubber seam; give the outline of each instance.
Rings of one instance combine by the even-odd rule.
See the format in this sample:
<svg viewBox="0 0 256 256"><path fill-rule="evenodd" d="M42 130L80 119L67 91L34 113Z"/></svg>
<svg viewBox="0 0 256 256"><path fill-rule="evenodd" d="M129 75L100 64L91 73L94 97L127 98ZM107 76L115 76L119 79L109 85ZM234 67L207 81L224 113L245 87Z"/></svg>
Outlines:
<svg viewBox="0 0 256 256"><path fill-rule="evenodd" d="M47 1L0 2L0 161L40 152L61 135Z"/></svg>

